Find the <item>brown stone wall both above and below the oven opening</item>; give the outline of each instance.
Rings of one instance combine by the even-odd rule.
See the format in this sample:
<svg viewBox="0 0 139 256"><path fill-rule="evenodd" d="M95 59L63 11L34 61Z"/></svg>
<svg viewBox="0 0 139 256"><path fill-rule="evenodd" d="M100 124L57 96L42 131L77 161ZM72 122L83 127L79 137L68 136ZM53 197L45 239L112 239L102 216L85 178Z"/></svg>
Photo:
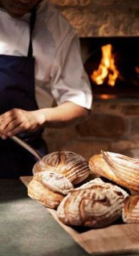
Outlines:
<svg viewBox="0 0 139 256"><path fill-rule="evenodd" d="M62 11L80 37L139 35L138 0L49 1ZM83 62L88 55L85 43ZM78 126L44 131L49 152L73 151L88 160L102 149L139 158L139 103L134 100L94 101L92 108L91 117Z"/></svg>

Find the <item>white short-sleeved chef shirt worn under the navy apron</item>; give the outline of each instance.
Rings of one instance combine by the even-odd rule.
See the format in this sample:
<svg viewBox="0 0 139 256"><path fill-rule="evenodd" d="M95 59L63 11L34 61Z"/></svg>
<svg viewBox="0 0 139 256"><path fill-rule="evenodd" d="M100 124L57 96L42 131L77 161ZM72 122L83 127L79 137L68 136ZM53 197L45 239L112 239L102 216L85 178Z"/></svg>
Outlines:
<svg viewBox="0 0 139 256"><path fill-rule="evenodd" d="M27 56L29 18L12 18L0 9L0 55ZM35 57L35 92L40 108L72 101L91 108L92 94L80 56L80 44L74 28L61 12L43 1L37 9L32 34Z"/></svg>

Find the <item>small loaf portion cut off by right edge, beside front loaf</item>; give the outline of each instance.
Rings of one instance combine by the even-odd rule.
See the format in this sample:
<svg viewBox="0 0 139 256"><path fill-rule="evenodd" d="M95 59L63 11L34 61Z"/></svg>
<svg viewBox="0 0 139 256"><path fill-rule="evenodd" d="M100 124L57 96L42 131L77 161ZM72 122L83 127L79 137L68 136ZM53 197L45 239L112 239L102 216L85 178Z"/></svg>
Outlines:
<svg viewBox="0 0 139 256"><path fill-rule="evenodd" d="M125 223L139 223L139 195L127 197L127 199L125 199L123 221Z"/></svg>

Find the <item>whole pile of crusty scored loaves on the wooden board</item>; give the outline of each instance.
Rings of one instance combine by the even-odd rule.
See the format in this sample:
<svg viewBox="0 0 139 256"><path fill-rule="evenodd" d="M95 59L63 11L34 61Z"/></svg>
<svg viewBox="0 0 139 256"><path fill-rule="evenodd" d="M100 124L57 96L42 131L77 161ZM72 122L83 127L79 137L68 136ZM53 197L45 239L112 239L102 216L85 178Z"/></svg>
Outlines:
<svg viewBox="0 0 139 256"><path fill-rule="evenodd" d="M34 165L33 174L29 197L57 209L66 225L102 228L121 216L139 223L139 159L101 151L87 162L74 152L53 152ZM97 178L85 183L90 174Z"/></svg>

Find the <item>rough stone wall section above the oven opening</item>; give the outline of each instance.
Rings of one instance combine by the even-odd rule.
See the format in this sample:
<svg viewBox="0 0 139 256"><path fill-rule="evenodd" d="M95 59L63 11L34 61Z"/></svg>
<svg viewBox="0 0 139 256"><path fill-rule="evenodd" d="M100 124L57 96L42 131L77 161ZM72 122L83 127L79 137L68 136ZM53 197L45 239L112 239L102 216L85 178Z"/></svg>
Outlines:
<svg viewBox="0 0 139 256"><path fill-rule="evenodd" d="M139 36L138 0L49 0L80 37Z"/></svg>

